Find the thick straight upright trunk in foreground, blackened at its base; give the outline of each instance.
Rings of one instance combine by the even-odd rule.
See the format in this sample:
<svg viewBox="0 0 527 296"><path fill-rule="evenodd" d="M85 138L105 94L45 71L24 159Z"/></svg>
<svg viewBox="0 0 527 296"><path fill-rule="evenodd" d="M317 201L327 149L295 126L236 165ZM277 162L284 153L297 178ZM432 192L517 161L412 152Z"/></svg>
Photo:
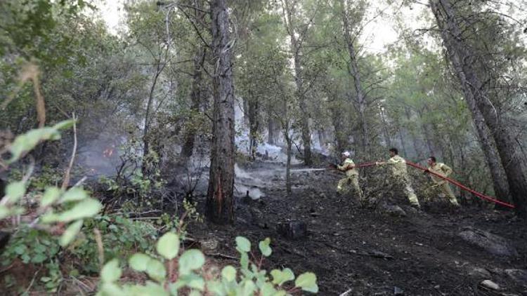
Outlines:
<svg viewBox="0 0 527 296"><path fill-rule="evenodd" d="M234 222L234 87L230 65L229 17L226 0L211 2L214 116L207 217L216 223Z"/></svg>

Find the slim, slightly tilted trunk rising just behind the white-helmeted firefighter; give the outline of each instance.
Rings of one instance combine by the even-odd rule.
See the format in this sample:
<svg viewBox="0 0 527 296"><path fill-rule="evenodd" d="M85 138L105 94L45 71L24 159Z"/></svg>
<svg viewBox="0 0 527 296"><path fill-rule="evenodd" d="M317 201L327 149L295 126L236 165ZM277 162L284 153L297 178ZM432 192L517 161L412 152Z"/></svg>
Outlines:
<svg viewBox="0 0 527 296"><path fill-rule="evenodd" d="M349 66L348 66L348 72L353 77L353 87L355 88L355 93L357 95L356 100L353 100L354 105L356 105L356 109L358 112L358 119L360 124L360 149L362 150L362 154L365 156L365 159L368 158L370 155L370 134L369 134L369 128L367 123L367 117L366 117L366 95L365 91L363 89L363 86L360 84L360 72L358 69L358 60L357 60L357 53L355 46L353 45L353 38L351 36L350 31L350 24L349 24L349 18L346 13L346 5L344 4L344 0L340 1L342 6L342 22L344 25L343 31L344 31L344 39L346 41L346 45L348 47L348 54L349 54Z"/></svg>

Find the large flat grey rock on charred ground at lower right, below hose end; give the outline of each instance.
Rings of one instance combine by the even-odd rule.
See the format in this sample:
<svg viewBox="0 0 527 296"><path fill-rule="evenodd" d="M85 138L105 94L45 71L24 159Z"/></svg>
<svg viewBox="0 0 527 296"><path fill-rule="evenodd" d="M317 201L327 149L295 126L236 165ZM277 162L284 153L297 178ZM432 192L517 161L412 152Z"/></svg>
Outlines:
<svg viewBox="0 0 527 296"><path fill-rule="evenodd" d="M518 251L501 236L491 234L488 231L473 227L464 227L464 230L457 234L467 243L477 245L488 253L502 256L517 256Z"/></svg>

